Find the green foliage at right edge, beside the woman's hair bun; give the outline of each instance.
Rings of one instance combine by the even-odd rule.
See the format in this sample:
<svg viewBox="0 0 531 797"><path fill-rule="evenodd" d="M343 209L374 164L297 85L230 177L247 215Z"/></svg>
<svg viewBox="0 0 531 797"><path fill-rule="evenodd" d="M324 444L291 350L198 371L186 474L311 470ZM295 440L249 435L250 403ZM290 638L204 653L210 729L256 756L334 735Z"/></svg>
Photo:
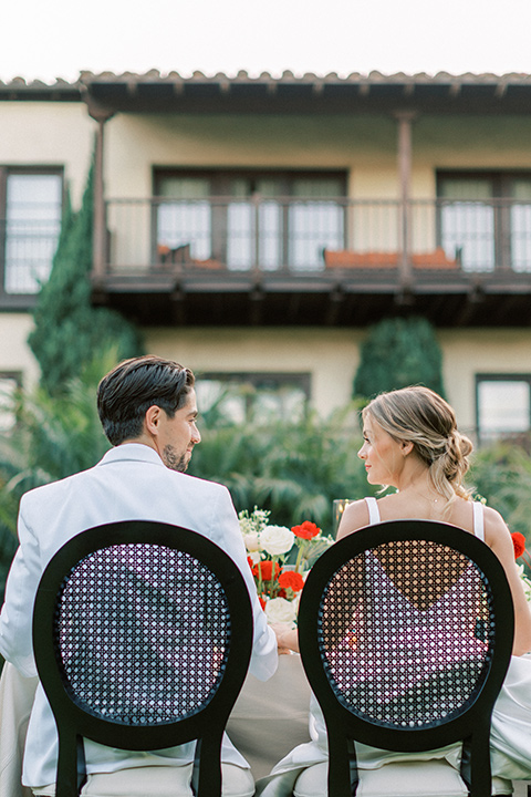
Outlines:
<svg viewBox="0 0 531 797"><path fill-rule="evenodd" d="M497 443L473 454L467 483L497 509L511 531L531 547L531 457L521 447Z"/></svg>

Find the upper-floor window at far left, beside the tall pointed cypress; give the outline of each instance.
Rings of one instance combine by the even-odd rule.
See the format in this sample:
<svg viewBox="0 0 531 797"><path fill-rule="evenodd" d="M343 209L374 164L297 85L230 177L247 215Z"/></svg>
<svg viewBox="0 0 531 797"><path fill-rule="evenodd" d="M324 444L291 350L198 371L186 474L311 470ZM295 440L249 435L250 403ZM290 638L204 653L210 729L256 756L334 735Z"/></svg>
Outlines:
<svg viewBox="0 0 531 797"><path fill-rule="evenodd" d="M61 230L62 193L58 172L6 172L6 293L37 293L48 279Z"/></svg>

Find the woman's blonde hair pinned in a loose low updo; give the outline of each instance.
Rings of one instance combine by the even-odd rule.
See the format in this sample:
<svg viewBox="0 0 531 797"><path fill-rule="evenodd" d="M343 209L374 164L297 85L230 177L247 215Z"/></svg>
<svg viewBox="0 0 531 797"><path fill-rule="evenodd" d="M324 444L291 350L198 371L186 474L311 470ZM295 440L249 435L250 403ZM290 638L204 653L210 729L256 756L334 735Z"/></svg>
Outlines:
<svg viewBox="0 0 531 797"><path fill-rule="evenodd" d="M363 410L395 441L413 443L428 465L435 489L451 500L469 498L462 479L472 444L457 428L451 406L429 387L418 385L381 393Z"/></svg>

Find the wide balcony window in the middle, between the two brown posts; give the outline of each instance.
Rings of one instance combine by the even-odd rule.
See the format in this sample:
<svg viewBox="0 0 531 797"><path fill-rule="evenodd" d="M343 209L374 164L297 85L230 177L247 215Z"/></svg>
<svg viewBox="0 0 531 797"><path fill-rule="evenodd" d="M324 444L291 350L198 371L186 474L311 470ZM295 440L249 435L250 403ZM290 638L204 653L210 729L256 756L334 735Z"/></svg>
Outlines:
<svg viewBox="0 0 531 797"><path fill-rule="evenodd" d="M344 248L345 176L339 173L155 173L156 242L231 270L323 268Z"/></svg>

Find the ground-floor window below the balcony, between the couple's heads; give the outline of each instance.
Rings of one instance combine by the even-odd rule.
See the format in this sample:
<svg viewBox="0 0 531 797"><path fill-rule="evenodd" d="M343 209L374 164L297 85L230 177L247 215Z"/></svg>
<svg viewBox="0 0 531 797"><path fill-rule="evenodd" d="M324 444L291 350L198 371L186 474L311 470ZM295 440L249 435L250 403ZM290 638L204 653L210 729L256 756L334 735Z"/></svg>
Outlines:
<svg viewBox="0 0 531 797"><path fill-rule="evenodd" d="M207 424L300 421L310 397L310 374L206 373L196 381Z"/></svg>

